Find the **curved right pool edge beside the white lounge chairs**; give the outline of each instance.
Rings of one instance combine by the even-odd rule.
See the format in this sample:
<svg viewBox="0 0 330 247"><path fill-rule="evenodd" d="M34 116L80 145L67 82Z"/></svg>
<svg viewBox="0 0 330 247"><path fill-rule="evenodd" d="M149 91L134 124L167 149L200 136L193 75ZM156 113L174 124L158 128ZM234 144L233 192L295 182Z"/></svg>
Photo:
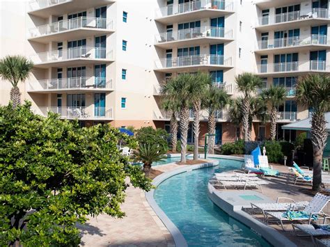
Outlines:
<svg viewBox="0 0 330 247"><path fill-rule="evenodd" d="M297 247L296 244L274 228L261 223L256 220L256 218L253 218L240 209L235 210L230 207L225 200L221 199L221 192L217 191L217 189L215 189L210 183L207 184L207 196L224 212L249 227L253 232L256 232L256 234L262 236L269 242L269 244L272 244L272 246Z"/></svg>

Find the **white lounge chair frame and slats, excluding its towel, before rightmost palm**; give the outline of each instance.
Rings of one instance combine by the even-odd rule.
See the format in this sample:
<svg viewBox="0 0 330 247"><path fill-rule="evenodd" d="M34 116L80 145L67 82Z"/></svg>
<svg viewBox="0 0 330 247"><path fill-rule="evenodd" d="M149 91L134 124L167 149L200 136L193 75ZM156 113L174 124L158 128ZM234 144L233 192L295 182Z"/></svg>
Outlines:
<svg viewBox="0 0 330 247"><path fill-rule="evenodd" d="M281 226L282 229L284 229L283 226L283 222L285 221L308 221L308 224L311 223L311 221L313 220L314 216L317 215L323 215L324 216L324 221L325 221L325 214L322 212L322 209L324 209L324 207L328 204L330 200L329 196L324 196L322 193L317 193L313 199L311 200L311 202L309 202L309 204L305 207L304 209L304 213L306 213L308 216L306 217L301 217L301 218L287 218L285 216L283 216L283 212L269 212L269 211L265 211L265 214L268 216L271 216L272 218L276 218L278 221L281 222ZM294 210L294 208L293 208ZM290 212L293 212L290 209Z"/></svg>

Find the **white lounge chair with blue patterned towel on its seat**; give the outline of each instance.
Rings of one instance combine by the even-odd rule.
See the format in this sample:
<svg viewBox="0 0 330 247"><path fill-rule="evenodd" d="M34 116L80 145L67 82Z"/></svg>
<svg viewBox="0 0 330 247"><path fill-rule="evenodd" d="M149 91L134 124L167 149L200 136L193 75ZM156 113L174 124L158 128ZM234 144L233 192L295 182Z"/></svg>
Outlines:
<svg viewBox="0 0 330 247"><path fill-rule="evenodd" d="M271 216L272 218L276 218L280 221L282 229L285 230L283 226L284 221L308 221L308 224L310 224L313 219L317 218L317 215L324 216L325 221L326 215L322 212L322 209L328 204L329 200L329 196L324 196L322 193L317 193L302 212L294 212L293 207L292 210L290 209L284 213L265 211L265 214L267 215L267 219L269 219L268 216Z"/></svg>

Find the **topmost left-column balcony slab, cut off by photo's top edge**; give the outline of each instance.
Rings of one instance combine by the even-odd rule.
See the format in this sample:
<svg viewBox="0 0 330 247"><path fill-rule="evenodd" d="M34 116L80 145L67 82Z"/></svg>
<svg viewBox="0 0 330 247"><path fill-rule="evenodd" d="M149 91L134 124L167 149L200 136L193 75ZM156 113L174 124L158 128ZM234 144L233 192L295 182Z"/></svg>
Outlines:
<svg viewBox="0 0 330 247"><path fill-rule="evenodd" d="M29 1L28 13L47 19L51 15L61 16L63 13L76 13L77 10L87 10L104 6L116 0L32 0Z"/></svg>

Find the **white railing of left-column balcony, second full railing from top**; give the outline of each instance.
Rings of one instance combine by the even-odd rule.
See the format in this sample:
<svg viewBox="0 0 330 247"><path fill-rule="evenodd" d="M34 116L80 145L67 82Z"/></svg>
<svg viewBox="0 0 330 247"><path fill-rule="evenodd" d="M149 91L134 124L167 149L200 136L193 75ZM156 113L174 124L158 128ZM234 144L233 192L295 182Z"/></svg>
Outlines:
<svg viewBox="0 0 330 247"><path fill-rule="evenodd" d="M71 59L107 59L113 60L113 51L99 47L76 47L56 51L45 51L31 56L33 63L66 61Z"/></svg>

